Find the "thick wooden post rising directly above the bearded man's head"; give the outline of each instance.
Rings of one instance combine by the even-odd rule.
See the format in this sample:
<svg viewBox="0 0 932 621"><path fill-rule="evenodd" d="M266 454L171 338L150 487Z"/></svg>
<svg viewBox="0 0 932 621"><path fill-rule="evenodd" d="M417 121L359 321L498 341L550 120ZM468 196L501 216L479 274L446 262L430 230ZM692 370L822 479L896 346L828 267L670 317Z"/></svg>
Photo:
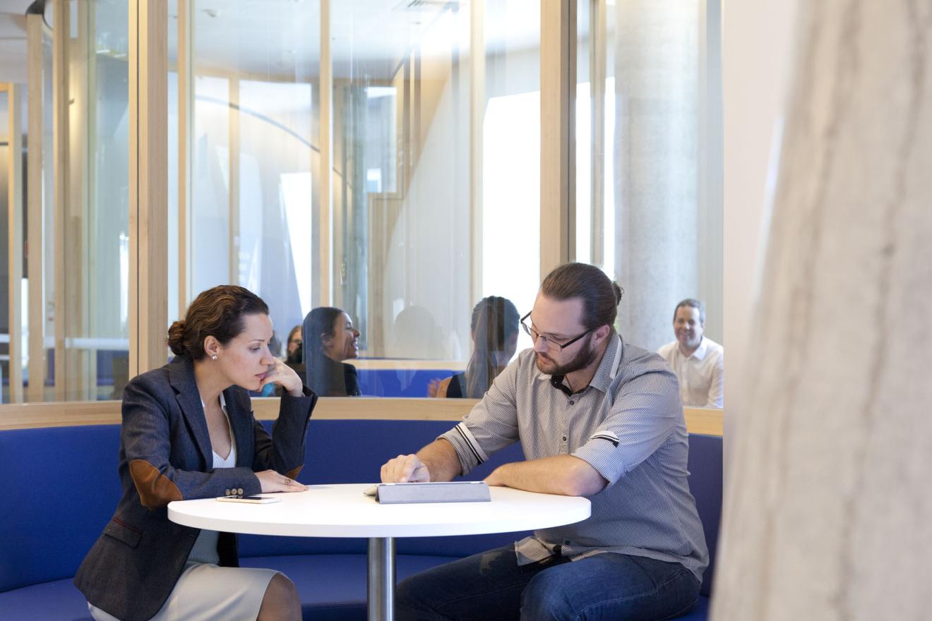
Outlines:
<svg viewBox="0 0 932 621"><path fill-rule="evenodd" d="M541 278L575 256L576 0L541 0Z"/></svg>

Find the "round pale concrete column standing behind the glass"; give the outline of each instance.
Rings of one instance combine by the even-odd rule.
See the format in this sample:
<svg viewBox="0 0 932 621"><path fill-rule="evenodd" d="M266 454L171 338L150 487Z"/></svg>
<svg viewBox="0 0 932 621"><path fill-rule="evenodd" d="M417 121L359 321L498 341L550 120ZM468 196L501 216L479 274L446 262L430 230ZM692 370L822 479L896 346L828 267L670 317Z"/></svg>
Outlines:
<svg viewBox="0 0 932 621"><path fill-rule="evenodd" d="M624 338L673 340L679 300L698 295L699 3L615 6L615 274Z"/></svg>

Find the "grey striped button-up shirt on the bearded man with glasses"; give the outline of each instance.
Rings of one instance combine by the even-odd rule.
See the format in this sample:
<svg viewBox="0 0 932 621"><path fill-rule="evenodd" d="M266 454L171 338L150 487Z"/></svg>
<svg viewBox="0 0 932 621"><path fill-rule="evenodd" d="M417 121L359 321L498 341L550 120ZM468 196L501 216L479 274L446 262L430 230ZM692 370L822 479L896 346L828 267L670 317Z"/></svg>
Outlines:
<svg viewBox="0 0 932 621"><path fill-rule="evenodd" d="M613 334L582 391L567 395L551 379L538 370L532 349L521 352L462 423L441 436L456 449L463 474L520 440L528 460L574 455L609 481L589 496L587 520L517 542L518 564L619 552L682 563L702 580L706 538L687 480L677 378L664 359Z"/></svg>

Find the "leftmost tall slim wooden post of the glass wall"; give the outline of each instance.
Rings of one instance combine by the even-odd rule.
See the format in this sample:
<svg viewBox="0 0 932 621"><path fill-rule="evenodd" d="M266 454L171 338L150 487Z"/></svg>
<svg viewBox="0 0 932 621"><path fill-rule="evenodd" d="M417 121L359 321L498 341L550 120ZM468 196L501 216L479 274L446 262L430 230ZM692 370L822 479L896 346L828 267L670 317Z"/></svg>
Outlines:
<svg viewBox="0 0 932 621"><path fill-rule="evenodd" d="M43 149L43 75L41 15L26 16L26 74L27 115L29 116L29 144L26 151L27 180L26 211L27 277L29 279L29 386L27 401L41 401L45 393L46 345L45 345L45 244L43 231L45 216L42 209L42 149Z"/></svg>

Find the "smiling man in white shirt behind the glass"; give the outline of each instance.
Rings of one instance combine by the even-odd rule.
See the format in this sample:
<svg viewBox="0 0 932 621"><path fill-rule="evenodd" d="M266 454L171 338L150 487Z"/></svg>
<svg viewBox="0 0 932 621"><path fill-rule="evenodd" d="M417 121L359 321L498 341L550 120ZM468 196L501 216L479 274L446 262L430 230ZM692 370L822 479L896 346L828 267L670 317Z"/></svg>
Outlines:
<svg viewBox="0 0 932 621"><path fill-rule="evenodd" d="M725 353L722 346L703 335L706 307L687 298L673 312L677 340L657 350L679 378L683 405L693 408L722 407Z"/></svg>

